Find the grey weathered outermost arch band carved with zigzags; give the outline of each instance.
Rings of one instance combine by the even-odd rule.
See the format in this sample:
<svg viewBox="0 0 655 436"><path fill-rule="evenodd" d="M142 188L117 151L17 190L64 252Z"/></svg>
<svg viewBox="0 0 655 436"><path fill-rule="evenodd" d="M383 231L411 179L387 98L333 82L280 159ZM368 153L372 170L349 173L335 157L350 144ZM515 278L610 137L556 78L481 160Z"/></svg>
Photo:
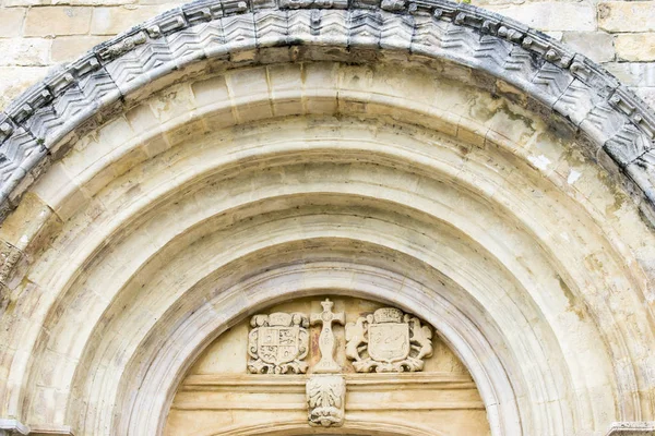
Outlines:
<svg viewBox="0 0 655 436"><path fill-rule="evenodd" d="M68 134L130 93L204 59L238 65L238 52L254 51L257 62L258 50L291 46L402 50L484 71L569 120L655 205L652 109L598 64L516 21L445 0L199 0L95 47L0 112L0 219Z"/></svg>

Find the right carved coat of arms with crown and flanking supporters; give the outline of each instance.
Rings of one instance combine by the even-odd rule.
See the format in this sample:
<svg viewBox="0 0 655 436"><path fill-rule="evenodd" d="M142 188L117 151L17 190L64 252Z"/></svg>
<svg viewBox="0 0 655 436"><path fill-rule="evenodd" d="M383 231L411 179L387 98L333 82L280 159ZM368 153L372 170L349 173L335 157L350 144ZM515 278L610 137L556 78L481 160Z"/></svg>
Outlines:
<svg viewBox="0 0 655 436"><path fill-rule="evenodd" d="M358 373L422 371L432 355L432 331L420 320L393 307L346 325L346 356Z"/></svg>

